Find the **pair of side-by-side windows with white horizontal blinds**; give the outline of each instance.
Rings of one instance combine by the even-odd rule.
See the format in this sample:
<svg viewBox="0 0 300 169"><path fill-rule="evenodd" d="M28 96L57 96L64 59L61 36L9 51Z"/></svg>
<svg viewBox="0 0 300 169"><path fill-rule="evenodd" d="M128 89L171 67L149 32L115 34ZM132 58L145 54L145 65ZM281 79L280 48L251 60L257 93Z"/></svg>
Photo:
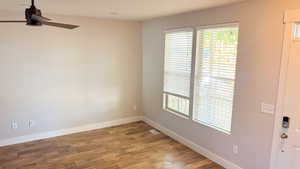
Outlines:
<svg viewBox="0 0 300 169"><path fill-rule="evenodd" d="M238 24L202 27L197 34L193 32L165 34L164 109L230 133Z"/></svg>

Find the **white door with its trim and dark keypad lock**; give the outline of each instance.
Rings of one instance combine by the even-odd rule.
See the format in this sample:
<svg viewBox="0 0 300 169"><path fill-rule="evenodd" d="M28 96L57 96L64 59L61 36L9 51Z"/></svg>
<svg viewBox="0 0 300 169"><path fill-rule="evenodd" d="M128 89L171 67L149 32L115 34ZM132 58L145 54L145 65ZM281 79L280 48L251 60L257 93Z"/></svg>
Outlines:
<svg viewBox="0 0 300 169"><path fill-rule="evenodd" d="M272 169L300 169L300 10L285 16L285 35L279 87L277 149ZM299 31L299 32L298 32ZM298 32L298 33L297 33ZM288 123L287 123L288 122ZM285 126L283 126L285 123Z"/></svg>

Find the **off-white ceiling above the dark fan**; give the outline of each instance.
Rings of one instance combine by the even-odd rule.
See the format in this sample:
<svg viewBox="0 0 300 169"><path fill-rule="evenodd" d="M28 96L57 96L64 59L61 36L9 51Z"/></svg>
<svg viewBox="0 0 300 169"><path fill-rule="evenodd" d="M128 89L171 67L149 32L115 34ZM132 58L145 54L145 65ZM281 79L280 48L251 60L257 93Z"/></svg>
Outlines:
<svg viewBox="0 0 300 169"><path fill-rule="evenodd" d="M44 13L146 20L241 0L36 0ZM30 0L1 0L0 9L24 11Z"/></svg>

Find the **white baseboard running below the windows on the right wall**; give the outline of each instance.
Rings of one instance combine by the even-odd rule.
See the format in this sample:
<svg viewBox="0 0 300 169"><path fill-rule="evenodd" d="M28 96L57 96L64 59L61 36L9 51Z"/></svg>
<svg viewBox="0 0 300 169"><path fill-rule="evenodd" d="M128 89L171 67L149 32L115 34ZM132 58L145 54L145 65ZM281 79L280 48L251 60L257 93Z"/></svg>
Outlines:
<svg viewBox="0 0 300 169"><path fill-rule="evenodd" d="M177 133L175 133L174 131L165 128L164 126L161 126L160 124L150 120L147 117L144 117L144 122L146 122L147 124L149 124L150 126L156 128L157 130L160 130L161 132L163 132L164 134L170 136L171 138L173 138L174 140L177 140L178 142L184 144L185 146L191 148L192 150L198 152L201 155L204 155L205 157L207 157L208 159L218 163L219 165L223 166L226 169L242 169L241 167L239 167L238 165L218 156L217 154L207 150L204 147L199 146L198 144L178 135Z"/></svg>

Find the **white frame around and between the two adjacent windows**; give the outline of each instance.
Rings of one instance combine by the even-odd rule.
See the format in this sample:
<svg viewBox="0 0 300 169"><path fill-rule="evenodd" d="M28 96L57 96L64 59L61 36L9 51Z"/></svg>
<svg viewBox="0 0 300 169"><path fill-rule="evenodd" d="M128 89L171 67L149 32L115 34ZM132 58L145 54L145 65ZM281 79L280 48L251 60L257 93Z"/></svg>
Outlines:
<svg viewBox="0 0 300 169"><path fill-rule="evenodd" d="M223 28L223 27L237 27L239 29L240 32L240 24L237 21L233 21L233 22L229 22L229 23L222 23L222 24L209 24L209 25L202 25L202 26L194 26L194 27L183 27L183 28L175 28L175 29L168 29L165 30L163 32L163 89L162 89L162 98L163 98L163 105L162 105L162 109L163 111L166 111L168 113L171 114L175 114L176 116L182 117L184 119L187 120L191 120L192 122L195 122L196 124L199 124L201 126L204 127L208 127L210 129L214 129L216 131L220 131L224 134L227 135L231 135L232 132L232 124L233 124L233 114L234 114L234 104L235 104L235 93L236 93L236 84L234 85L233 88L233 103L232 103L232 117L231 117L231 130L228 132L226 130L223 130L221 128L218 128L214 125L210 125L204 122L200 122L200 120L196 120L194 119L194 91L195 91L195 74L196 74L196 63L197 63L197 41L198 41L198 31L201 29L212 29L212 28ZM181 96L181 95L177 95L177 94L173 94L173 93L169 93L164 91L164 85L165 85L165 50L166 50L166 35L167 33L173 33L173 32L183 32L183 31L189 31L189 32L193 32L193 42L192 42L192 61L191 61L191 74L190 74L190 97L185 97L185 96ZM238 46L237 46L237 59L236 59L236 67L238 64L238 55L239 55L239 39L238 39ZM237 70L235 72L235 78L234 78L234 82L236 83L236 77L237 77ZM189 100L189 115L185 115L183 113L180 113L176 110L170 109L168 108L166 104L166 99L168 97L168 95L173 95L179 98L184 98Z"/></svg>

